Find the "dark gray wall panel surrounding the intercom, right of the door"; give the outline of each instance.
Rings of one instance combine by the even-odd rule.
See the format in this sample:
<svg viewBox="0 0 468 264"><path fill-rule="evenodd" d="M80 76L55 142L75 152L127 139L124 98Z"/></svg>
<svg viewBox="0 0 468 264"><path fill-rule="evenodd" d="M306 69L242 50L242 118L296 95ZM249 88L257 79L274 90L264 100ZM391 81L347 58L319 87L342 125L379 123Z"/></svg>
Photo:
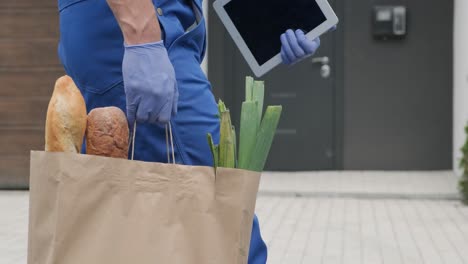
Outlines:
<svg viewBox="0 0 468 264"><path fill-rule="evenodd" d="M406 38L374 40L373 6L395 4ZM453 1L345 1L342 21L344 169L451 169Z"/></svg>

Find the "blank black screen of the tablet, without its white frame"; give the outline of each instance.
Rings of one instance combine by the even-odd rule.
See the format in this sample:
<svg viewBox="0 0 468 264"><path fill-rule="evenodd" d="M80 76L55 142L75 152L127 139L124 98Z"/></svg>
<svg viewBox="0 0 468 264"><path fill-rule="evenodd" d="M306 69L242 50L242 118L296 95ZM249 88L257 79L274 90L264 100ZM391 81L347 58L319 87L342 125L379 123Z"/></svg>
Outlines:
<svg viewBox="0 0 468 264"><path fill-rule="evenodd" d="M315 0L232 0L225 10L260 65L280 52L287 29L309 32L326 21Z"/></svg>

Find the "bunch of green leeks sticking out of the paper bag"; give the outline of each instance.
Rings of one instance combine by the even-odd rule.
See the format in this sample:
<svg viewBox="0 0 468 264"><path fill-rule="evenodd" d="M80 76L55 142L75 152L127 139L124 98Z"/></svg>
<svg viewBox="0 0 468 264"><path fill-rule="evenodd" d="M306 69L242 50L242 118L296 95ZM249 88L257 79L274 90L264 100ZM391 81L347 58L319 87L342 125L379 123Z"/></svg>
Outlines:
<svg viewBox="0 0 468 264"><path fill-rule="evenodd" d="M207 136L215 168L240 168L258 172L263 170L282 112L281 106L268 106L262 118L264 99L264 82L247 77L245 101L241 109L239 144L229 109L219 100L219 145L214 144L211 134Z"/></svg>

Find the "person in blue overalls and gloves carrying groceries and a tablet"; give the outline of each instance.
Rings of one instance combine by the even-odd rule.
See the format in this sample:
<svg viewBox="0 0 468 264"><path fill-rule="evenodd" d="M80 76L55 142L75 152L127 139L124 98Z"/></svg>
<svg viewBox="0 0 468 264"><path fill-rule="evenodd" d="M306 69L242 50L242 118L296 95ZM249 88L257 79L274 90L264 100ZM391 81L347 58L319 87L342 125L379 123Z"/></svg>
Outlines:
<svg viewBox="0 0 468 264"><path fill-rule="evenodd" d="M59 0L59 57L85 97L87 110L117 106L136 120L135 159L165 162L165 124L176 162L213 164L206 134L219 141L217 105L200 63L206 50L202 0ZM286 64L313 54L319 39L288 30ZM177 115L176 115L177 114ZM267 249L253 222L249 263Z"/></svg>

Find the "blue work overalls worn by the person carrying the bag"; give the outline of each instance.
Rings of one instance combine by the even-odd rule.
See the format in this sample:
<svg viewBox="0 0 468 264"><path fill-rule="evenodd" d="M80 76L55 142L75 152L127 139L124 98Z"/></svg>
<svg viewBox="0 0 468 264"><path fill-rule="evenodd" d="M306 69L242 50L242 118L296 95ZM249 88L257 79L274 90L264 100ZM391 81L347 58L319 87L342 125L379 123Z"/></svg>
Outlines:
<svg viewBox="0 0 468 264"><path fill-rule="evenodd" d="M122 80L123 36L105 0L58 0L59 57L80 88L87 110L117 106L126 109ZM206 134L219 141L217 105L200 64L206 50L201 0L153 0L164 44L179 88L178 114L172 119L176 162L212 165ZM166 162L162 125L139 124L135 159ZM216 250L216 249L213 249ZM267 249L258 220L252 229L249 264L266 263Z"/></svg>

